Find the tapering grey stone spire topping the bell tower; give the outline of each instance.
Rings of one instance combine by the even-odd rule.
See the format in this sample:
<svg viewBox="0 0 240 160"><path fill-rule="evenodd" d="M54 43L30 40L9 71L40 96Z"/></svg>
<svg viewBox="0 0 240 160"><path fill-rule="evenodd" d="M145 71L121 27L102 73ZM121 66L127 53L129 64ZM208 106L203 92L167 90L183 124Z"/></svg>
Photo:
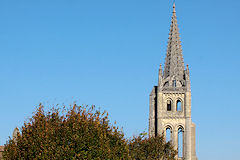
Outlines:
<svg viewBox="0 0 240 160"><path fill-rule="evenodd" d="M173 4L173 15L168 38L167 55L165 59L164 78L172 77L182 80L184 75L184 63L182 46L177 25L175 3Z"/></svg>

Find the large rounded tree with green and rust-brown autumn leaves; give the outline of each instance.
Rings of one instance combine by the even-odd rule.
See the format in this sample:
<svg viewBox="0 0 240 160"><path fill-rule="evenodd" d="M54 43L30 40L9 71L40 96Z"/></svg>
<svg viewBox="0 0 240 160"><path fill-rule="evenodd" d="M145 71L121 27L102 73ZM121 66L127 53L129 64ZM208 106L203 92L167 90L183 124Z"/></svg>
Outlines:
<svg viewBox="0 0 240 160"><path fill-rule="evenodd" d="M110 125L108 114L74 105L66 112L45 112L40 105L15 140L5 145L5 159L130 159L127 140Z"/></svg>

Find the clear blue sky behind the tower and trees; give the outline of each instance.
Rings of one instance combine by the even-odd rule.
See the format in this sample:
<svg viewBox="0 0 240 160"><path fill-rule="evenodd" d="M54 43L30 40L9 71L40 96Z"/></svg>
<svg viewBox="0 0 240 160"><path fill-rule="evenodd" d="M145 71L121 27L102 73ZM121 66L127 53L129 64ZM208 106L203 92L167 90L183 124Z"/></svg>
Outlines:
<svg viewBox="0 0 240 160"><path fill-rule="evenodd" d="M200 160L239 158L239 8L176 2ZM95 104L127 137L147 131L171 12L169 0L0 0L0 144L40 102Z"/></svg>

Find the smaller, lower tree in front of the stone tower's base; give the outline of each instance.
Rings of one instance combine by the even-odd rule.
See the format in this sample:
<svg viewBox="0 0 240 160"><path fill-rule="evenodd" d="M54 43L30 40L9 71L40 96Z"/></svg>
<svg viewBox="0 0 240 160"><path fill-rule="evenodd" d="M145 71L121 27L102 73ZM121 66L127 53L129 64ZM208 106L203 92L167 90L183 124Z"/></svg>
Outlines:
<svg viewBox="0 0 240 160"><path fill-rule="evenodd" d="M129 142L129 151L134 160L175 160L177 151L163 135L146 137L143 133L133 137Z"/></svg>

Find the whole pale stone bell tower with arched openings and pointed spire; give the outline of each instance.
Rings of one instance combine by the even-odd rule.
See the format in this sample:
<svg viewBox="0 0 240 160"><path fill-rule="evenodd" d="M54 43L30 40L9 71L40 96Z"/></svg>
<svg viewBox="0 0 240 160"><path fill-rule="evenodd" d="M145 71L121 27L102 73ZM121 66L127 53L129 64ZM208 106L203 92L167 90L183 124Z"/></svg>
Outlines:
<svg viewBox="0 0 240 160"><path fill-rule="evenodd" d="M149 136L159 134L169 137L179 152L178 159L197 160L189 68L185 68L183 62L175 4L164 71L160 65L158 86L154 86L150 94Z"/></svg>

